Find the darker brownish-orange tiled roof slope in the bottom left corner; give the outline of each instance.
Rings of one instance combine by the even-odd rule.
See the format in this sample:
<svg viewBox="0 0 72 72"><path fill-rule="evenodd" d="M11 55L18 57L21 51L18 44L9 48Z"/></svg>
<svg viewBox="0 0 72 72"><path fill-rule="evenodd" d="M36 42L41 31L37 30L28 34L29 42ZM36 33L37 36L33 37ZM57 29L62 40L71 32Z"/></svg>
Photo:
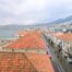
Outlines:
<svg viewBox="0 0 72 72"><path fill-rule="evenodd" d="M0 52L0 72L36 72L24 53Z"/></svg>

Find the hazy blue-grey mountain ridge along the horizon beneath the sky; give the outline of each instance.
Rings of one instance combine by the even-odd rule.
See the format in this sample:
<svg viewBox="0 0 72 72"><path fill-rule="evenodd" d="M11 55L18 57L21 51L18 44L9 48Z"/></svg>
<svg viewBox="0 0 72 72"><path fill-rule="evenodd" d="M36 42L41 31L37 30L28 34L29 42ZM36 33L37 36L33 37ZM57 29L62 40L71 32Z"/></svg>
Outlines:
<svg viewBox="0 0 72 72"><path fill-rule="evenodd" d="M64 17L64 19L58 19L49 23L41 23L41 24L34 24L34 25L20 25L20 24L9 24L9 25L0 25L0 31L2 29L16 29L16 31L22 31L26 27L34 27L34 26L48 26L48 25L53 25L53 24L63 24L70 22L72 23L72 15Z"/></svg>

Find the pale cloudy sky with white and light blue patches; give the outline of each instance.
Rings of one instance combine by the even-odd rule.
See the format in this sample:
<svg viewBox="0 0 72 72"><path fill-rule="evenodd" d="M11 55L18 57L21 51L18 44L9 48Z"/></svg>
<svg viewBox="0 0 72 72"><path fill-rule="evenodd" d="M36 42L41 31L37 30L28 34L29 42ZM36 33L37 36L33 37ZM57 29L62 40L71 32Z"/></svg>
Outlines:
<svg viewBox="0 0 72 72"><path fill-rule="evenodd" d="M0 0L0 25L38 24L72 15L72 0Z"/></svg>

